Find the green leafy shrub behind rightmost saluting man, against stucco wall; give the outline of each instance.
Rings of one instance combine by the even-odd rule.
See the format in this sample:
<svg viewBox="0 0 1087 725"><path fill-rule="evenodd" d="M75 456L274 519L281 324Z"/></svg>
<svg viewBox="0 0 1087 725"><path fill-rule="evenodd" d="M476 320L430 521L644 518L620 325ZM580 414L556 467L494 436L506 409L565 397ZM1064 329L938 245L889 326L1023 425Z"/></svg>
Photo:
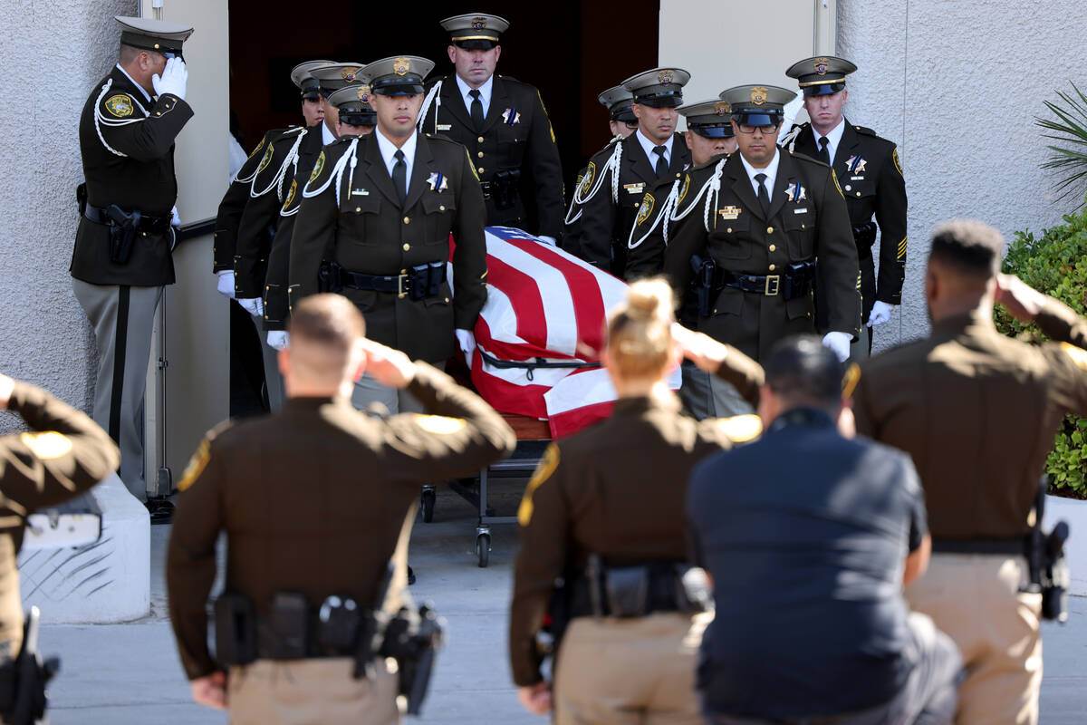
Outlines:
<svg viewBox="0 0 1087 725"><path fill-rule="evenodd" d="M1004 258L1004 272L1017 275L1037 290L1061 300L1079 314L1087 309L1087 210L1064 217L1064 224L1042 232L1016 232ZM997 328L1011 335L1044 336L997 308ZM1087 418L1069 415L1057 433L1046 461L1057 488L1087 496Z"/></svg>

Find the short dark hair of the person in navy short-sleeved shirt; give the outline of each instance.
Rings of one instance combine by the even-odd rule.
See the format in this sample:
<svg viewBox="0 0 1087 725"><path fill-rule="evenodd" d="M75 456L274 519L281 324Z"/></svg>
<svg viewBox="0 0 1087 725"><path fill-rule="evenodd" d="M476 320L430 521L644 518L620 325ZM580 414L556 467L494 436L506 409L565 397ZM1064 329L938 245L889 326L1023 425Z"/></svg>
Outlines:
<svg viewBox="0 0 1087 725"><path fill-rule="evenodd" d="M816 335L778 340L764 370L766 385L788 403L833 408L841 402L846 367Z"/></svg>

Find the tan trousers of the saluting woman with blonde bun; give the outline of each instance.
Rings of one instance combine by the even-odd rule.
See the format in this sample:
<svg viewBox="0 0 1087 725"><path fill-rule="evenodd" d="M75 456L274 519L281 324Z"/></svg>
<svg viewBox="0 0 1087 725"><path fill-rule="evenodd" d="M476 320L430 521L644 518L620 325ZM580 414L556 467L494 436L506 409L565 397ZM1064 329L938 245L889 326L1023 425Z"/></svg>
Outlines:
<svg viewBox="0 0 1087 725"><path fill-rule="evenodd" d="M695 665L712 617L574 620L555 664L555 725L700 725Z"/></svg>

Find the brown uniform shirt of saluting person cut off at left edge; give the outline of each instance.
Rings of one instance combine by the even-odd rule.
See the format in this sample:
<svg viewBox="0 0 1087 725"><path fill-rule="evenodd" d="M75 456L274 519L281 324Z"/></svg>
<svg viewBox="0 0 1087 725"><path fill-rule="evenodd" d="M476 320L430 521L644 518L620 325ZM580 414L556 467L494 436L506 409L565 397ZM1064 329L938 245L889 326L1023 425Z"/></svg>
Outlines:
<svg viewBox="0 0 1087 725"><path fill-rule="evenodd" d="M0 438L0 647L15 655L23 642L15 558L26 517L105 478L121 464L121 453L87 415L32 385L15 383L8 410L32 428Z"/></svg>

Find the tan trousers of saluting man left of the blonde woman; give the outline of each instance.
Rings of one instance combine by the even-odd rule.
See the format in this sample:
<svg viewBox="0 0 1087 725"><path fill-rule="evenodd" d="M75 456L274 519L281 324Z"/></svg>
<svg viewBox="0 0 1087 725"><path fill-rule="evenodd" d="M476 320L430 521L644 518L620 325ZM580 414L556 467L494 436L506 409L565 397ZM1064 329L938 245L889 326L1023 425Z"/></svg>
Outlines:
<svg viewBox="0 0 1087 725"><path fill-rule="evenodd" d="M351 677L351 658L258 660L232 667L230 725L395 725L396 664L375 662L373 679Z"/></svg>

